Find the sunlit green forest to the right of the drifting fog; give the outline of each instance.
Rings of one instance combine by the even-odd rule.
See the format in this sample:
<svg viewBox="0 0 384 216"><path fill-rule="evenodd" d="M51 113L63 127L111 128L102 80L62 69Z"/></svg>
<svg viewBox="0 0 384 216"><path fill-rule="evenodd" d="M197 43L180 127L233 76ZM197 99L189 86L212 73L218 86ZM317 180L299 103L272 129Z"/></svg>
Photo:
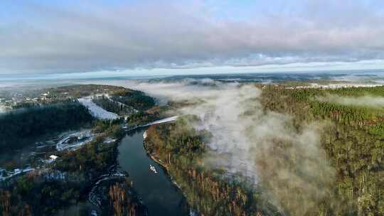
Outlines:
<svg viewBox="0 0 384 216"><path fill-rule="evenodd" d="M268 86L261 101L266 112L290 114L298 132L310 123L324 125L321 146L336 169L332 193L339 204L325 202L316 215L384 215L383 108L317 99L328 95L383 97L384 87L289 90Z"/></svg>

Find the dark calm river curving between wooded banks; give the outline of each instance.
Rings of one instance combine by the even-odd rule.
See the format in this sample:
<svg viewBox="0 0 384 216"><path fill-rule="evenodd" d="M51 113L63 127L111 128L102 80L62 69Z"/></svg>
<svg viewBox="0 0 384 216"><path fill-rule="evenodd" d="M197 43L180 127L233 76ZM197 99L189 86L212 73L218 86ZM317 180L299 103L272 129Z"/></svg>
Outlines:
<svg viewBox="0 0 384 216"><path fill-rule="evenodd" d="M134 190L148 207L149 215L188 215L181 190L171 182L166 171L147 155L143 144L144 131L137 129L122 139L117 158L119 166L129 173ZM150 171L149 165L153 165L157 173Z"/></svg>

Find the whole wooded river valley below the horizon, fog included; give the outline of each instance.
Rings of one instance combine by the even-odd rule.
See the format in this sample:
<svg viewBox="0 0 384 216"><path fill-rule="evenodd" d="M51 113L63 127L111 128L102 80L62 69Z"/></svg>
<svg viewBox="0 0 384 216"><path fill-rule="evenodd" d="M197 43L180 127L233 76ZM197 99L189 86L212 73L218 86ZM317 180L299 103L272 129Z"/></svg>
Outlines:
<svg viewBox="0 0 384 216"><path fill-rule="evenodd" d="M382 86L168 85L58 87L6 112L2 214L383 213Z"/></svg>

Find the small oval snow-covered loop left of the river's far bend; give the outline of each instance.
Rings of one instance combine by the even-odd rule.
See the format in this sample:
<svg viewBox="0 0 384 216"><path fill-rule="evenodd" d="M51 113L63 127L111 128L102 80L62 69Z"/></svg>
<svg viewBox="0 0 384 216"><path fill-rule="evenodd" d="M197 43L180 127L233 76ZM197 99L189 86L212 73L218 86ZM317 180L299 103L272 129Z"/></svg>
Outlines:
<svg viewBox="0 0 384 216"><path fill-rule="evenodd" d="M95 137L90 130L79 131L73 134L68 134L64 136L58 143L56 144L56 149L58 151L64 150L75 150L80 146L89 143Z"/></svg>

